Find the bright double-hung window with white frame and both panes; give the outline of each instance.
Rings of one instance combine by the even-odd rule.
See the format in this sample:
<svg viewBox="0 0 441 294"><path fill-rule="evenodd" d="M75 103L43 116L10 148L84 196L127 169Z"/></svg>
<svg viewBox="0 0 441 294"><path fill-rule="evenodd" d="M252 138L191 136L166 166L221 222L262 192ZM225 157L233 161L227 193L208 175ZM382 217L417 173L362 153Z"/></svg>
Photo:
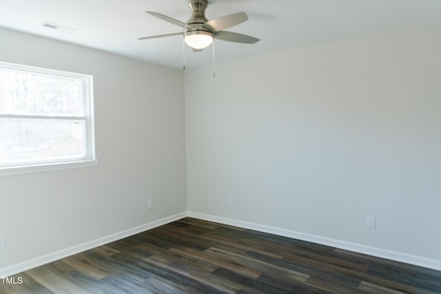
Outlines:
<svg viewBox="0 0 441 294"><path fill-rule="evenodd" d="M92 76L0 62L0 171L96 165L93 123Z"/></svg>

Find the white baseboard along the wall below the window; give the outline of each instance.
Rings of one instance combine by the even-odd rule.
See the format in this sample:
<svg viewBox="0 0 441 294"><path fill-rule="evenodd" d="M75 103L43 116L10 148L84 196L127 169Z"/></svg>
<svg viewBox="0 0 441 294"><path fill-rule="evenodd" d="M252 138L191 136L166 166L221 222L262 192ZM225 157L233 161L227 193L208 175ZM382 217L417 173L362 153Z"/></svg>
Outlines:
<svg viewBox="0 0 441 294"><path fill-rule="evenodd" d="M154 222L149 222L147 224L142 224L141 226L134 227L132 229L127 229L119 233L114 233L112 235L107 235L103 238L85 242L83 244L78 244L70 248L62 249L60 251L49 253L47 255L40 256L39 258L34 258L19 264L14 264L6 268L0 269L0 277L9 277L10 275L15 275L21 273L22 271L27 271L28 269L33 269L34 267L47 264L49 262L54 262L61 258L67 258L70 255L87 251L93 249L97 246L102 246L104 244L120 240L143 231L154 229L156 227L162 226L163 224L168 224L169 222L174 222L175 220L180 220L187 216L186 212L175 214L174 216L169 216L167 218L161 218L161 220L155 220Z"/></svg>

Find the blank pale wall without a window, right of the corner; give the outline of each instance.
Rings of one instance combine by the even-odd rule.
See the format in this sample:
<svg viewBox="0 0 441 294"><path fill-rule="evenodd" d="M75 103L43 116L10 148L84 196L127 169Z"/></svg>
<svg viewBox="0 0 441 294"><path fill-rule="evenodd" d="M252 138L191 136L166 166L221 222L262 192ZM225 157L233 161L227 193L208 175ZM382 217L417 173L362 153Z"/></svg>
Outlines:
<svg viewBox="0 0 441 294"><path fill-rule="evenodd" d="M441 262L440 36L187 70L188 210Z"/></svg>

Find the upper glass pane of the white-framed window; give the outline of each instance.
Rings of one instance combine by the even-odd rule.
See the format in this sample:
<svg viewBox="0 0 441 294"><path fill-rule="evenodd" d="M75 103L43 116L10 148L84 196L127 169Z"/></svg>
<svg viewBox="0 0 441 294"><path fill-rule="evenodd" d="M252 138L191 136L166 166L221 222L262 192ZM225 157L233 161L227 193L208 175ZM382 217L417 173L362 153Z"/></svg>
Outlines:
<svg viewBox="0 0 441 294"><path fill-rule="evenodd" d="M0 68L0 114L84 116L83 81Z"/></svg>

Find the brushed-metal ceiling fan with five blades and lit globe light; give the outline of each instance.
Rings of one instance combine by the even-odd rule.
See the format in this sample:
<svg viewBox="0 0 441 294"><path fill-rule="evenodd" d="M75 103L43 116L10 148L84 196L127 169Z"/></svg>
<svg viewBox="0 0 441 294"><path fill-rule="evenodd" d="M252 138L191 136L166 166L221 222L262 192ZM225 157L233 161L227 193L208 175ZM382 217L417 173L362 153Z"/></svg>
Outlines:
<svg viewBox="0 0 441 294"><path fill-rule="evenodd" d="M207 0L189 0L188 6L190 10L192 10L192 17L189 18L187 23L178 21L172 17L167 17L166 15L158 12L146 11L148 14L151 14L158 19L162 19L163 21L180 26L183 28L183 32L160 34L157 36L145 36L143 38L139 38L139 40L183 35L185 43L187 43L187 45L189 45L194 52L200 52L207 48L213 43L213 39L247 44L253 44L260 41L259 39L254 38L254 36L247 36L246 34L225 31L227 28L231 28L234 25L247 21L248 16L245 14L245 12L229 14L209 21L205 17L205 10L208 6Z"/></svg>

